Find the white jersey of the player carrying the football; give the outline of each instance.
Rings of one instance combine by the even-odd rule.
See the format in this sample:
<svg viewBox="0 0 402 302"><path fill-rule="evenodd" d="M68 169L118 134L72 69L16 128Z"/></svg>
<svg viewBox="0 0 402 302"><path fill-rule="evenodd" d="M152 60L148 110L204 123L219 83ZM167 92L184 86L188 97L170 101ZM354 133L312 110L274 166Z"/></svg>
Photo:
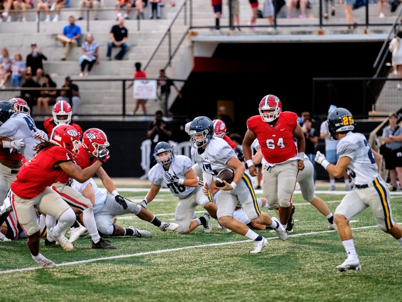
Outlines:
<svg viewBox="0 0 402 302"><path fill-rule="evenodd" d="M204 152L198 154L198 150ZM223 169L233 169L227 164L233 156L236 156L235 151L225 140L219 137L212 138L205 150L202 148L191 149L191 157L194 158L204 172L213 175L214 178Z"/></svg>

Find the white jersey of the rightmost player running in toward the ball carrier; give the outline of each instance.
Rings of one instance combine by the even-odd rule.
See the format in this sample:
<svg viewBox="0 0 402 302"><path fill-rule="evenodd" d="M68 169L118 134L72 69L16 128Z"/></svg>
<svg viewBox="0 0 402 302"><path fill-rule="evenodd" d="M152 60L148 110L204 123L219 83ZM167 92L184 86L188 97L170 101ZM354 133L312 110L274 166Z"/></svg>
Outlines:
<svg viewBox="0 0 402 302"><path fill-rule="evenodd" d="M351 158L347 173L355 185L367 184L379 176L371 147L363 134L348 132L339 140L336 153Z"/></svg>

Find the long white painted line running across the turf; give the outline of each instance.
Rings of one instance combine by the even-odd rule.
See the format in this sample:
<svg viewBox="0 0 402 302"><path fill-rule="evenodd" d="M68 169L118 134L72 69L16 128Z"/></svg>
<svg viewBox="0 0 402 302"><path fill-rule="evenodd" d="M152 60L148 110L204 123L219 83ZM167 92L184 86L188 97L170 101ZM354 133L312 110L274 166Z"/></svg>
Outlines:
<svg viewBox="0 0 402 302"><path fill-rule="evenodd" d="M366 228L373 228L373 227L378 227L378 225L352 227L351 229L352 230L358 230L358 229L366 229ZM315 234L323 234L323 233L331 233L331 232L337 232L337 230L300 233L300 234L288 235L288 237L299 237L299 236L305 236L305 235L315 235ZM266 239L267 240L272 240L272 239L278 239L278 237L269 237L269 238L266 238ZM244 242L250 242L250 241L253 241L253 240L248 239L248 240L241 240L241 241L229 241L229 242L221 242L221 243L210 243L210 244L183 246L183 247L178 247L178 248L174 248L174 249L165 249L165 250L150 251L150 252L143 252L143 253L136 253L136 254L129 254L129 255L118 255L118 256L111 256L111 257L93 258L93 259L72 261L72 262L63 262L63 263L60 263L60 264L56 264L56 266L59 267L59 266L67 266L67 265L74 265L74 264L81 264L81 263L89 263L89 262L102 261L102 260L129 258L129 257L137 257L137 256L151 255L151 254L161 254L161 253L166 253L166 252L176 252L176 251L181 251L181 250L188 250L188 249L192 249L192 248L201 248L201 247L209 247L209 246L237 244L237 243L244 243ZM39 267L39 266L28 267L28 268L24 268L24 269L0 271L0 274L24 272L24 271L33 271L33 270L38 270L38 269L42 269L42 268Z"/></svg>

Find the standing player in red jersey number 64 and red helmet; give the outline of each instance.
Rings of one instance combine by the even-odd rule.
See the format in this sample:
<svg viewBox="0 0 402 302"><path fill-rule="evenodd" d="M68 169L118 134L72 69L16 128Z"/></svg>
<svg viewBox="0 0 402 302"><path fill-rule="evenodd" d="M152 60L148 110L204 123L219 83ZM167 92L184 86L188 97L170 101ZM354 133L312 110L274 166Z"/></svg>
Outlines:
<svg viewBox="0 0 402 302"><path fill-rule="evenodd" d="M244 159L251 176L257 170L251 159L251 144L258 139L263 165L262 191L269 206L279 210L279 219L287 230L293 229L292 195L297 174L304 169L305 140L298 116L290 111L282 112L281 101L274 95L265 96L259 103L259 115L247 120L247 132L243 140ZM297 139L297 148L293 141Z"/></svg>

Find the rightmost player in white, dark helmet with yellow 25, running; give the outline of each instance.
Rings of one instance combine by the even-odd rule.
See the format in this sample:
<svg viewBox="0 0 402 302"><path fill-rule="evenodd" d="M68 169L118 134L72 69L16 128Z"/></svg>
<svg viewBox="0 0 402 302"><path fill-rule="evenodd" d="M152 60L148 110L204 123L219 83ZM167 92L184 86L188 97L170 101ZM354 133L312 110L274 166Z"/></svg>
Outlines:
<svg viewBox="0 0 402 302"><path fill-rule="evenodd" d="M326 127L331 139L338 140L336 153L339 160L330 164L325 155L317 152L316 162L335 177L341 177L343 171L352 179L355 189L345 195L335 210L335 223L340 240L346 250L347 259L336 269L338 271L360 270L361 264L353 243L349 221L365 208L370 207L378 227L391 234L402 245L402 228L392 219L390 191L378 174L376 159L379 155L371 149L366 137L353 133L354 121L349 110L333 109L328 114Z"/></svg>

